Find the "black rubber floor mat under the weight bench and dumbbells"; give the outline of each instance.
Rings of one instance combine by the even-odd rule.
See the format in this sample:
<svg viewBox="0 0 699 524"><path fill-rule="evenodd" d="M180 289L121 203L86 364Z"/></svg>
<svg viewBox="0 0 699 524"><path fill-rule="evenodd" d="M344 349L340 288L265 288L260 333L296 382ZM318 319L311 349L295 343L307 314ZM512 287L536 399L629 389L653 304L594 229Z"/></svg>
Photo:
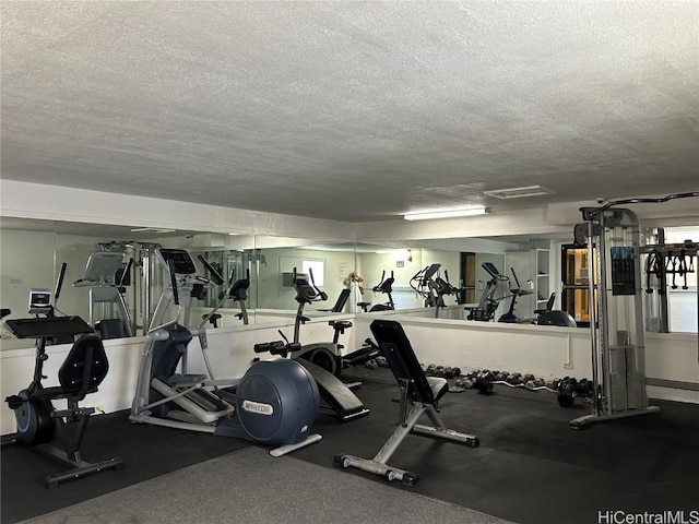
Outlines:
<svg viewBox="0 0 699 524"><path fill-rule="evenodd" d="M333 467L334 454L370 458L379 451L394 429L398 388L387 385L388 370L368 373L357 394L371 414L346 426L319 419L322 442L295 456ZM654 404L661 413L573 430L568 420L590 405L566 409L554 394L498 386L491 395L449 393L441 401L446 424L477 434L481 446L408 436L390 463L420 480L395 487L522 524L599 522L606 511L689 515L699 509L699 406Z"/></svg>

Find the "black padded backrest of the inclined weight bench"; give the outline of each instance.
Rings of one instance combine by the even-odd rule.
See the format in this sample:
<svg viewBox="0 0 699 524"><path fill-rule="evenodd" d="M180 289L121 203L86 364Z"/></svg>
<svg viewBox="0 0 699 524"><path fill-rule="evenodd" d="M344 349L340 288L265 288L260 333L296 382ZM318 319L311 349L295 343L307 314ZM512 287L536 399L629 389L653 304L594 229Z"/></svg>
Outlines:
<svg viewBox="0 0 699 524"><path fill-rule="evenodd" d="M435 402L433 389L425 372L417 361L413 346L411 346L403 326L394 320L377 319L369 326L377 344L383 352L393 376L400 382L410 380L410 397L424 404Z"/></svg>

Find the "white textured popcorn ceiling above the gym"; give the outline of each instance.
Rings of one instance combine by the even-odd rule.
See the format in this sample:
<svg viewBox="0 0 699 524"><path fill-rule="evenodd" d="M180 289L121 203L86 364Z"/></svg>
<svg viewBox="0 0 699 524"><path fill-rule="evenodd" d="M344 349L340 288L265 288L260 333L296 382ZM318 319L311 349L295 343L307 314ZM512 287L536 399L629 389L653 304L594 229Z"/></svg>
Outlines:
<svg viewBox="0 0 699 524"><path fill-rule="evenodd" d="M7 179L351 222L699 189L698 1L1 15Z"/></svg>

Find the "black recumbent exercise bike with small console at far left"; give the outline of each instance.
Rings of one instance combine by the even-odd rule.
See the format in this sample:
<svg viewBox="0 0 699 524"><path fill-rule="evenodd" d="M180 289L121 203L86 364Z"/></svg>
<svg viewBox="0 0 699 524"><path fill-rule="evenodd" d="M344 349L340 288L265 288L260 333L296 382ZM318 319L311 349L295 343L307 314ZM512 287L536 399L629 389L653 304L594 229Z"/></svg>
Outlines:
<svg viewBox="0 0 699 524"><path fill-rule="evenodd" d="M58 300L67 264L61 265L54 303ZM46 477L46 487L75 480L122 465L121 458L107 458L96 463L82 460L81 445L94 407L81 407L79 403L88 393L95 393L107 376L109 362L102 338L80 317L56 317L49 289L29 291L29 313L34 318L9 319L5 326L17 338L36 340L34 378L29 385L16 395L5 398L14 410L16 432L2 438L2 445L23 443L51 458L70 466L70 469ZM9 314L9 310L8 310ZM3 317L4 317L3 310ZM42 384L44 362L49 358L46 346L54 341L74 341L58 371L59 385ZM66 400L66 409L57 409L52 401Z"/></svg>

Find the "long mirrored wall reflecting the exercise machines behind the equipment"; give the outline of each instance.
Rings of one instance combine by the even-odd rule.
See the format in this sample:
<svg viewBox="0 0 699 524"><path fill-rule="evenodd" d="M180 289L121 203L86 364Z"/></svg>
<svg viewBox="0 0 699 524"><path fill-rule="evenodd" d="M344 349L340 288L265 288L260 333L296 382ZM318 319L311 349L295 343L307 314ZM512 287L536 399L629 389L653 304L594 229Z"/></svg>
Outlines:
<svg viewBox="0 0 699 524"><path fill-rule="evenodd" d="M242 303L238 297L220 305L220 289L210 289L196 302L192 324L217 306L222 315L217 326L293 322L299 307L294 274L327 296L305 306L309 318L435 308L437 299L447 307L475 305L493 279L484 270L486 263L507 277L497 291L498 315L511 305L510 288L517 287L532 291L517 303L518 314L528 317L558 289L557 246L567 241L518 236L355 243L1 217L0 306L10 309L13 318L26 317L29 290L56 289L66 264L57 301L60 312L78 314L93 325L120 318L122 336L140 335L169 286L153 257L154 249L164 247L187 249L202 276L211 275L199 255L228 283L249 281ZM449 284L451 293L437 297L439 289L445 290L433 285L437 279ZM696 281L689 287L696 296ZM690 327L696 331L696 322ZM26 347L26 342L14 340L4 329L1 342L2 349Z"/></svg>

